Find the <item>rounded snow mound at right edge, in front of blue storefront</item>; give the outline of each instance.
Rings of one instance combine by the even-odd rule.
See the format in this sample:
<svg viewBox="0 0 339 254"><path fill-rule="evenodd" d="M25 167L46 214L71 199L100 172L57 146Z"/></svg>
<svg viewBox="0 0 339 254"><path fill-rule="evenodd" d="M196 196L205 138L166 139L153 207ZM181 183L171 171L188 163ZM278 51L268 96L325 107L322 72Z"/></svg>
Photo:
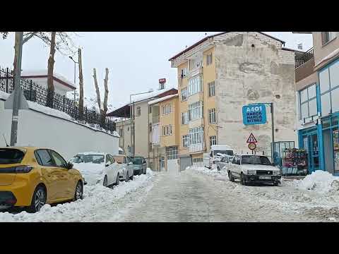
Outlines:
<svg viewBox="0 0 339 254"><path fill-rule="evenodd" d="M333 176L327 171L317 170L299 181L298 188L302 190L328 193L339 191L339 177Z"/></svg>

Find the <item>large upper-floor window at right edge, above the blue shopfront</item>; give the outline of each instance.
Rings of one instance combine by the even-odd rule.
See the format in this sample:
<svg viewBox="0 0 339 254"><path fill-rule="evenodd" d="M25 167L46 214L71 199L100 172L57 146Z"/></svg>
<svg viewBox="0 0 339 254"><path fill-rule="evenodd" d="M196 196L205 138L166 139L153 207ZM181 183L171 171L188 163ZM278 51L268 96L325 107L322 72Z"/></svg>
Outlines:
<svg viewBox="0 0 339 254"><path fill-rule="evenodd" d="M321 116L339 111L339 61L319 73Z"/></svg>

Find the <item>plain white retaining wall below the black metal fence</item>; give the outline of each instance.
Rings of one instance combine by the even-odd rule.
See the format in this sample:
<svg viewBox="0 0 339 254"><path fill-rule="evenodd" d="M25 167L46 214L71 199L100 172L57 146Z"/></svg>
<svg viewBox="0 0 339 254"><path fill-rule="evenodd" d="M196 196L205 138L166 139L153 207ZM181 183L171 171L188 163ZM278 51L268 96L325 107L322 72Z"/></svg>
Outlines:
<svg viewBox="0 0 339 254"><path fill-rule="evenodd" d="M0 100L0 147L6 146L2 134L8 143L11 140L11 116L11 110L5 110L4 100ZM71 159L78 152L118 154L118 143L119 138L78 123L32 109L19 111L18 146L49 147Z"/></svg>

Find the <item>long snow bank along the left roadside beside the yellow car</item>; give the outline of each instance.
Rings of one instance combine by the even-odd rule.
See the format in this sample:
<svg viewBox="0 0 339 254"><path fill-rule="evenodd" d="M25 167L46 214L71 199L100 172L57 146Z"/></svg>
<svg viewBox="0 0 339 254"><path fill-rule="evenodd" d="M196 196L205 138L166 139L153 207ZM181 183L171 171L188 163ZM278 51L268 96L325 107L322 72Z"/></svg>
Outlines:
<svg viewBox="0 0 339 254"><path fill-rule="evenodd" d="M0 212L0 222L107 222L115 219L119 205L129 193L138 192L145 195L145 188L153 179L153 171L134 176L133 181L120 182L119 186L106 188L101 185L84 186L83 200L66 202L56 206L44 205L40 212L30 214L20 212L11 214ZM145 188L145 191L143 191ZM117 211L118 210L118 211Z"/></svg>

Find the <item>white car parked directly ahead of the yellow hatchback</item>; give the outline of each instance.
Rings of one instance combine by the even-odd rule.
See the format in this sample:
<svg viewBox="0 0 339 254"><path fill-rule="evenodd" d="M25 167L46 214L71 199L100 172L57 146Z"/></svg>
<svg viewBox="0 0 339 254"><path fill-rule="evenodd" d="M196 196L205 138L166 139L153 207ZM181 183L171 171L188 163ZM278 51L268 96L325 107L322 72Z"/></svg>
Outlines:
<svg viewBox="0 0 339 254"><path fill-rule="evenodd" d="M107 153L81 152L70 162L81 172L88 185L102 184L112 186L119 184L119 165Z"/></svg>

